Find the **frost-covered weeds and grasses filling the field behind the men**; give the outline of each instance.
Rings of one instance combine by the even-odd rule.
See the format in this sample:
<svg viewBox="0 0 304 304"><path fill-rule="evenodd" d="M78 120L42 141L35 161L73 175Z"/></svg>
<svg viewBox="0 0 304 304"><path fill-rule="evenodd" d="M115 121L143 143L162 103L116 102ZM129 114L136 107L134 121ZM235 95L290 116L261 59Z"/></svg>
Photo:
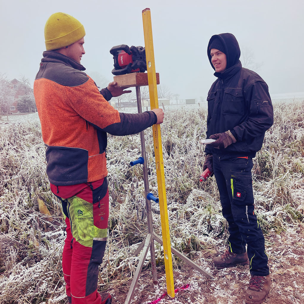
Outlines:
<svg viewBox="0 0 304 304"><path fill-rule="evenodd" d="M134 109L134 112L137 112ZM64 222L50 192L45 146L37 114L15 123L0 121L0 304L64 301L61 250ZM171 244L189 257L227 238L215 178L199 182L204 163L199 140L206 136L206 109L166 109L161 125ZM275 106L275 123L254 158L256 212L264 232L287 229L303 220L304 132L302 104ZM12 119L16 119L12 117ZM157 196L151 128L145 132L150 192ZM108 138L109 235L101 282L129 279L139 257L133 252L147 234L140 136ZM52 217L41 214L42 199ZM161 236L159 206L152 204L153 227ZM157 264L162 247L155 244ZM178 259L177 259L178 260ZM175 263L175 262L174 262ZM144 267L149 267L147 255ZM176 265L176 264L174 264ZM63 302L62 302L63 303Z"/></svg>

